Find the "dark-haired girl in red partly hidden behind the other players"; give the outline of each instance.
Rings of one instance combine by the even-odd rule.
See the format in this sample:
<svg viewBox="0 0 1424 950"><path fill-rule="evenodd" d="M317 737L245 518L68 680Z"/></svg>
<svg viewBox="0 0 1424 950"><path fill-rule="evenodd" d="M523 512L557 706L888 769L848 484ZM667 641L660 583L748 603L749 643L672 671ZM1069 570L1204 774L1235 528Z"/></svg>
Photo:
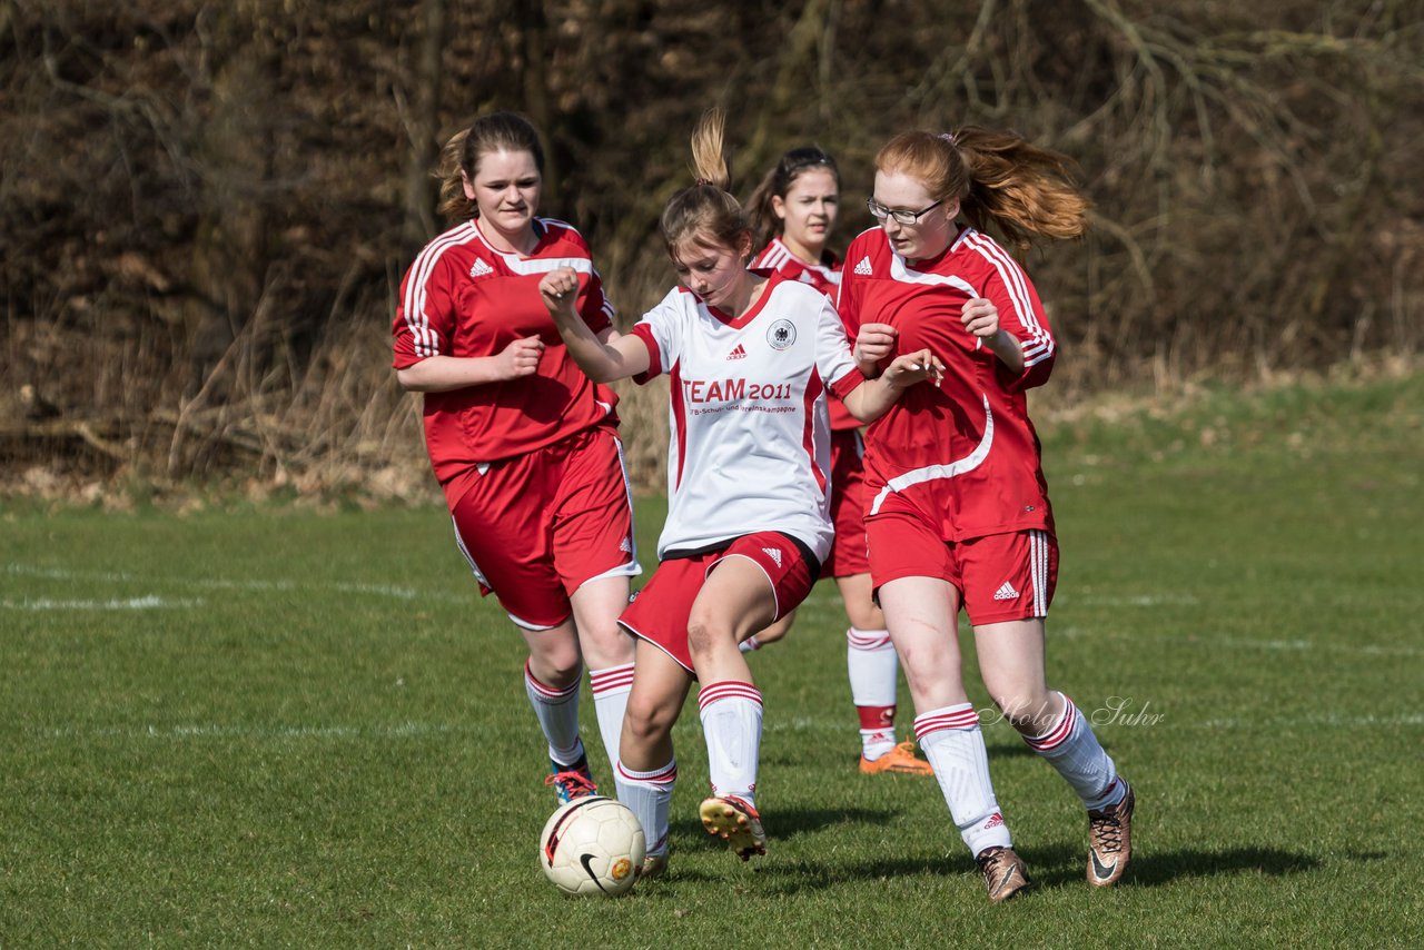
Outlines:
<svg viewBox="0 0 1424 950"><path fill-rule="evenodd" d="M840 209L840 172L836 160L816 147L793 148L766 172L748 199L748 216L762 252L753 271L773 271L809 283L834 299L840 289L840 262L826 246ZM864 476L860 420L839 400L830 402L830 517L836 541L826 573L846 607L846 669L850 699L860 719L860 771L867 775L931 775L930 763L916 758L914 742L896 742L896 685L899 659L884 614L870 597L870 563L866 560ZM786 635L795 620L787 614L772 627L742 641L758 649Z"/></svg>

